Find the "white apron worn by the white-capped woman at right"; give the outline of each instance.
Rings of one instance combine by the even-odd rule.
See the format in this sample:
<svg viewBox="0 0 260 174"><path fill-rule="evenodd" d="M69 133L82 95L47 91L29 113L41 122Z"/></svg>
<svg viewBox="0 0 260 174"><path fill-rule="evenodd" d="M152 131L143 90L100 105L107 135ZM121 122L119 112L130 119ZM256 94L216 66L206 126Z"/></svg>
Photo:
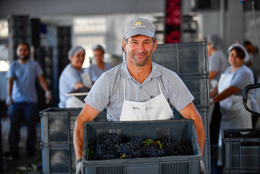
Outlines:
<svg viewBox="0 0 260 174"><path fill-rule="evenodd" d="M229 88L233 75L221 74L218 82L218 93L222 93ZM250 108L250 100L247 102ZM223 129L251 129L252 118L251 113L244 108L242 95L231 95L228 98L219 101L220 112L222 118L220 121L219 137L218 137L218 165L221 161L222 147L222 130Z"/></svg>

